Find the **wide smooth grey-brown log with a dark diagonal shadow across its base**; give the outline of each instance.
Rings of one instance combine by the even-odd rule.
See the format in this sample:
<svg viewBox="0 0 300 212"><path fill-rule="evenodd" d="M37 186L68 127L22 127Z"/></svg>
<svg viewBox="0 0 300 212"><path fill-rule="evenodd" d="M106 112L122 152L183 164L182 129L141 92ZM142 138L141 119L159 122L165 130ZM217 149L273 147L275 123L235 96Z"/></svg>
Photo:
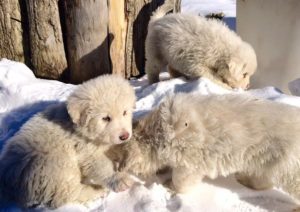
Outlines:
<svg viewBox="0 0 300 212"><path fill-rule="evenodd" d="M65 0L65 20L71 82L110 73L107 1Z"/></svg>

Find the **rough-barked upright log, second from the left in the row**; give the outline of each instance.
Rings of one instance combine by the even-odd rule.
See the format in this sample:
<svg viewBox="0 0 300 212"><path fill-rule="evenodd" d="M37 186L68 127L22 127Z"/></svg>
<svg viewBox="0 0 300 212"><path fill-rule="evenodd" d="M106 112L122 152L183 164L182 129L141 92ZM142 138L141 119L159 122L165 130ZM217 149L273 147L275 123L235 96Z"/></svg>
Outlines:
<svg viewBox="0 0 300 212"><path fill-rule="evenodd" d="M35 75L59 79L67 68L57 0L26 0Z"/></svg>

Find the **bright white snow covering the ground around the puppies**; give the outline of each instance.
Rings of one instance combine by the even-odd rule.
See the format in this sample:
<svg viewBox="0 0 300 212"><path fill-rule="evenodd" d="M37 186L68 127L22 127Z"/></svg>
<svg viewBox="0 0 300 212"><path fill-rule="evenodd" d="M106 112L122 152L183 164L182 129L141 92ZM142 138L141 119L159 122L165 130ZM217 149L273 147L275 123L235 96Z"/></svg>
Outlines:
<svg viewBox="0 0 300 212"><path fill-rule="evenodd" d="M161 74L163 81L148 85L146 77L132 79L137 96L134 118L145 115L166 96L177 92L194 92L202 95L229 92L208 79L187 82L184 79L169 79ZM300 88L300 81L293 87ZM75 85L58 81L37 79L25 65L10 60L0 61L0 149L5 141L33 114L49 104L64 101ZM274 87L247 91L259 98L283 102L300 107L300 97L282 93ZM173 194L159 181L137 184L131 189L110 192L104 199L91 202L88 206L65 205L55 211L291 211L296 203L279 189L252 191L236 182L233 176L216 180L205 179L186 194ZM14 205L3 206L0 211L21 211ZM37 211L48 211L38 208Z"/></svg>

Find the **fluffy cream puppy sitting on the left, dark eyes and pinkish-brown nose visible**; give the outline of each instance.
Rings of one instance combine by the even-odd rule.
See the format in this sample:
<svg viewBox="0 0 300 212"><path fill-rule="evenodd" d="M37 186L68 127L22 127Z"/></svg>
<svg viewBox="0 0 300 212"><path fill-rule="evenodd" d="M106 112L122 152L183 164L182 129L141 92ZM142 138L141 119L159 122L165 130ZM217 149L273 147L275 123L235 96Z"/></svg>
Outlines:
<svg viewBox="0 0 300 212"><path fill-rule="evenodd" d="M89 80L66 103L31 118L0 156L0 190L23 207L86 203L133 181L105 151L132 134L135 94L116 75Z"/></svg>

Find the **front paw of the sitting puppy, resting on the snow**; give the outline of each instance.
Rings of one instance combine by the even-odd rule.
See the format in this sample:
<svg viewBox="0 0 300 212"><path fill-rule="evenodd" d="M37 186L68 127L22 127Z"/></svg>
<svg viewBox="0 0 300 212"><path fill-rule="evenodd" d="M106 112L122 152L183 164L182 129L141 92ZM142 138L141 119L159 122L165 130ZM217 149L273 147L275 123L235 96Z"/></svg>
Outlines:
<svg viewBox="0 0 300 212"><path fill-rule="evenodd" d="M119 173L111 182L111 188L115 192L125 191L130 188L135 181L128 175L124 173Z"/></svg>

